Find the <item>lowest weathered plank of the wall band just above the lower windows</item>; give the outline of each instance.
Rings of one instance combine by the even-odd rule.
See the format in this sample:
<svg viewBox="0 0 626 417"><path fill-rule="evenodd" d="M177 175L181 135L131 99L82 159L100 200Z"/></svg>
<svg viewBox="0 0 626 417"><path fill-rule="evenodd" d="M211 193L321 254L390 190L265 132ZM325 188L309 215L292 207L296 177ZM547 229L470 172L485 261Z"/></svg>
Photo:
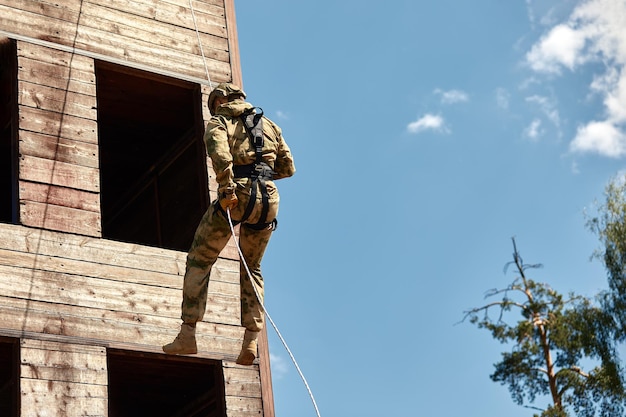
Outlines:
<svg viewBox="0 0 626 417"><path fill-rule="evenodd" d="M92 345L132 342L135 346L154 348L174 340L180 330L180 319L0 295L0 328L88 338ZM242 337L240 326L200 322L196 330L198 349L213 355L235 355L241 348Z"/></svg>

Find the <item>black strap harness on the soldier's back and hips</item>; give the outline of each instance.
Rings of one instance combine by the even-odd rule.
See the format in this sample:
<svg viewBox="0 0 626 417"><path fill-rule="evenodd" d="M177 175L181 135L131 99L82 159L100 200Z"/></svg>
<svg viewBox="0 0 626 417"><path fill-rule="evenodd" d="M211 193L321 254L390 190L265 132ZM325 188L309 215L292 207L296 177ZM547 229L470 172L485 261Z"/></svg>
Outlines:
<svg viewBox="0 0 626 417"><path fill-rule="evenodd" d="M269 222L267 221L269 194L267 192L266 181L271 181L274 178L274 170L263 162L263 144L265 142L263 137L263 109L254 107L246 110L240 117L246 133L248 134L248 138L250 139L250 143L254 146L256 159L252 164L233 165L233 176L235 178L250 178L252 180L250 185L250 200L243 212L241 220L237 223L244 223L250 217L250 214L252 214L256 203L258 188L261 191L261 216L257 223L244 223L244 226L253 230L263 230L267 228L275 230L278 221L276 219L272 219Z"/></svg>

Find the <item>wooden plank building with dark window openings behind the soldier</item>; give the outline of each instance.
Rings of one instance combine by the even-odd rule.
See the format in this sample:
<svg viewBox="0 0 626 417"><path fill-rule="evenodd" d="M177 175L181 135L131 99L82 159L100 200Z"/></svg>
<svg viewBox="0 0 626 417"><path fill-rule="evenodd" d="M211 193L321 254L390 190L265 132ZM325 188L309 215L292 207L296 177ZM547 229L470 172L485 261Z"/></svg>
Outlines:
<svg viewBox="0 0 626 417"><path fill-rule="evenodd" d="M200 352L161 351L238 53L234 0L0 0L0 416L274 416L267 339L235 364L232 241Z"/></svg>

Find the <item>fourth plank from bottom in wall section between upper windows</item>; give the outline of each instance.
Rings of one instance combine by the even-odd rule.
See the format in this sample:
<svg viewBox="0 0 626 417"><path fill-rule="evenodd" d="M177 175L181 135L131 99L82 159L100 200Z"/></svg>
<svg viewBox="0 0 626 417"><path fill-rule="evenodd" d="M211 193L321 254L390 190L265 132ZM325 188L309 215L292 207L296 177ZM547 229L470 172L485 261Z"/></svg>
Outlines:
<svg viewBox="0 0 626 417"><path fill-rule="evenodd" d="M58 136L20 131L20 155L35 156L88 168L99 167L98 145Z"/></svg>

